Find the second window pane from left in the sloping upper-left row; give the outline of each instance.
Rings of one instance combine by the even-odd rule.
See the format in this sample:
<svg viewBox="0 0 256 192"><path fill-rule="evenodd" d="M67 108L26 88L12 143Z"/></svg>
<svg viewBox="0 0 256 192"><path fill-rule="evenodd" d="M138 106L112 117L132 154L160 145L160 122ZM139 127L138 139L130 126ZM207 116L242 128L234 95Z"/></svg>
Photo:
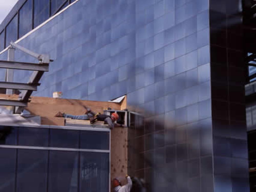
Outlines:
<svg viewBox="0 0 256 192"><path fill-rule="evenodd" d="M18 38L18 15L16 14L10 23L6 26L6 44L9 46L11 41L16 41Z"/></svg>

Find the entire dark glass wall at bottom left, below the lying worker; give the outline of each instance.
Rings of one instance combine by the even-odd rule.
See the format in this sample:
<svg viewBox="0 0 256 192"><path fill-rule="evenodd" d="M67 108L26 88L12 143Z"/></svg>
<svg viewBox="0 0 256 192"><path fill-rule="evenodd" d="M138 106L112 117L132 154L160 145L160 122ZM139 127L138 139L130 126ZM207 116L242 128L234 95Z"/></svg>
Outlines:
<svg viewBox="0 0 256 192"><path fill-rule="evenodd" d="M104 142L86 144L92 142L87 133ZM0 192L109 191L109 136L108 131L0 126Z"/></svg>

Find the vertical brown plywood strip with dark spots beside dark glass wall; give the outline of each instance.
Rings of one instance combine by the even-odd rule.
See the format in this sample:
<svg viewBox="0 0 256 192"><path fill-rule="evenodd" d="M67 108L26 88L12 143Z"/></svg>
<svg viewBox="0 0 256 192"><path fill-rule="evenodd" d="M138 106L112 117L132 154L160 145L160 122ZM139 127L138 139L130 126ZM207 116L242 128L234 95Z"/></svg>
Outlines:
<svg viewBox="0 0 256 192"><path fill-rule="evenodd" d="M111 181L118 178L122 184L126 182L125 175L128 171L127 129L129 128L115 127L111 130Z"/></svg>

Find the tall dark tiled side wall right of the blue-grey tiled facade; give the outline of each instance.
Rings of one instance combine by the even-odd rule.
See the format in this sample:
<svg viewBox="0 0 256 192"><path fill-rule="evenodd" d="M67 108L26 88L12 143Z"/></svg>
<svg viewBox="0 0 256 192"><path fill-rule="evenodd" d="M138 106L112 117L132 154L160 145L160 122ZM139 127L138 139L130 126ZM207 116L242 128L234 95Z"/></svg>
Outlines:
<svg viewBox="0 0 256 192"><path fill-rule="evenodd" d="M250 191L241 1L210 1L215 191Z"/></svg>

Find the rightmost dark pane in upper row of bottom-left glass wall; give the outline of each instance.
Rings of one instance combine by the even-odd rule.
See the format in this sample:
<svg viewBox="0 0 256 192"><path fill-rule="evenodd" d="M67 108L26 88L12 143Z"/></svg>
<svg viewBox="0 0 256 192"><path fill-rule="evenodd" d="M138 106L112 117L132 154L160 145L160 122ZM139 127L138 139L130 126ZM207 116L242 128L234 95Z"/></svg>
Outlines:
<svg viewBox="0 0 256 192"><path fill-rule="evenodd" d="M82 131L80 148L109 150L109 132Z"/></svg>

